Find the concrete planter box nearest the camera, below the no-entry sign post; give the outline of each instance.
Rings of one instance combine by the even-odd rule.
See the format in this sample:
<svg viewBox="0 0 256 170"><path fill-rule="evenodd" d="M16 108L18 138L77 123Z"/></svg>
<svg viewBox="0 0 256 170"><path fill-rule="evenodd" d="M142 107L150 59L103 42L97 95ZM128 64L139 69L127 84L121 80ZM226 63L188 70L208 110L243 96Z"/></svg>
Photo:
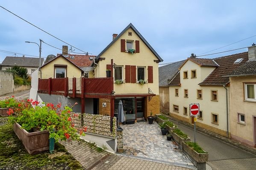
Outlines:
<svg viewBox="0 0 256 170"><path fill-rule="evenodd" d="M206 161L209 159L208 153L197 153L185 142L182 142L185 154L191 159L197 170L206 170Z"/></svg>

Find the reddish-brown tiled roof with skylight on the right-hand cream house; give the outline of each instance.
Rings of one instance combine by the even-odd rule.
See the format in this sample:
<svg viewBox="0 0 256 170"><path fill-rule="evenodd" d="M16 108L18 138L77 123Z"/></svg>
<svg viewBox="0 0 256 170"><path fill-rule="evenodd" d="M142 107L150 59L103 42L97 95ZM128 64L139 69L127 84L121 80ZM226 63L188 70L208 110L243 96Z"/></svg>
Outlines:
<svg viewBox="0 0 256 170"><path fill-rule="evenodd" d="M243 58L240 63L234 63L236 59L240 58ZM244 65L248 60L248 52L218 57L213 60L218 63L219 67L215 68L215 70L212 71L203 82L199 83L199 85L226 85L229 83L229 77L223 76L230 75L233 70Z"/></svg>

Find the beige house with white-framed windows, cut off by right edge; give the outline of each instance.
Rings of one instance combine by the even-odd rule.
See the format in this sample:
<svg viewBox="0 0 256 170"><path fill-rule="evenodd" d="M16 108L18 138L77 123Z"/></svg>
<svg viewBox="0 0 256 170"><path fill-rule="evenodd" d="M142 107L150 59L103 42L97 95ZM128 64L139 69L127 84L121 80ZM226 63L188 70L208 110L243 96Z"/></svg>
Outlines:
<svg viewBox="0 0 256 170"><path fill-rule="evenodd" d="M249 60L230 77L231 138L256 146L256 46L249 47Z"/></svg>

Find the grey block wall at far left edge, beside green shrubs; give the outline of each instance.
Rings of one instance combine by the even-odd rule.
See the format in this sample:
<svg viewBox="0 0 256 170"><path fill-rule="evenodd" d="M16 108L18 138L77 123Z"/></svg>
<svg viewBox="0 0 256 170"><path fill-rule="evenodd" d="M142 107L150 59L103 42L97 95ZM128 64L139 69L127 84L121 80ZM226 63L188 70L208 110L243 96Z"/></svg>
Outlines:
<svg viewBox="0 0 256 170"><path fill-rule="evenodd" d="M0 96L13 93L13 74L0 71Z"/></svg>

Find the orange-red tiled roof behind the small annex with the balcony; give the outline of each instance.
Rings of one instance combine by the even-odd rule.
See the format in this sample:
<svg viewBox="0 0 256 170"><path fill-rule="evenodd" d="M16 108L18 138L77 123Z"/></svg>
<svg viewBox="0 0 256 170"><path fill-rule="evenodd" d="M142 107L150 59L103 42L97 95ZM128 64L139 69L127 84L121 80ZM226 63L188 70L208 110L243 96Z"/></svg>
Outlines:
<svg viewBox="0 0 256 170"><path fill-rule="evenodd" d="M58 55L59 54L57 54L57 56ZM70 60L71 62L73 62L78 67L90 67L91 63L93 62L92 60L90 60L90 57L96 57L96 56L79 55L79 54L68 54L68 57L66 57L66 58L68 60Z"/></svg>

